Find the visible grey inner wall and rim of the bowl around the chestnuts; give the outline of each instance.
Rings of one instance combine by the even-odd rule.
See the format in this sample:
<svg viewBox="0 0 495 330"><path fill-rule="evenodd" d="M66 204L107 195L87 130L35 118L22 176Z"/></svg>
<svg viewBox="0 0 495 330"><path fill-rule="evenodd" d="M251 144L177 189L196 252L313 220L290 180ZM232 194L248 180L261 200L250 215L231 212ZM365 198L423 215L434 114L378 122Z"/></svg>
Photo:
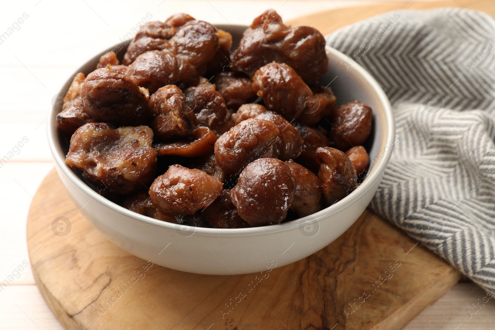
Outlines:
<svg viewBox="0 0 495 330"><path fill-rule="evenodd" d="M242 37L244 30L247 26L241 25L217 25L219 29L228 31L232 34L233 43L232 48L237 49L237 45ZM70 169L65 165L65 155L68 152L69 141L68 139L57 129L56 114L61 111L63 105L63 97L69 89L73 78L79 72L83 72L88 75L96 69L96 65L99 61L99 57L104 53L114 50L117 53L117 57L120 61L124 56L129 41L123 42L110 47L105 51L102 51L83 66L81 66L64 84L60 93L53 99L52 109L49 114L48 125L48 139L49 145L54 157L54 160L62 173L66 175L73 183L78 186L79 189L84 191L89 198L97 201L100 204L120 213L128 218L134 219L139 222L144 222L151 226L157 226L165 229L175 230L176 224L171 224L159 220L155 220L138 213L132 212L115 204L108 199L99 195L96 191L91 189L92 185L82 178L82 175L75 170ZM330 86L337 96L338 105L344 104L350 101L359 100L371 106L373 109L373 128L368 138L368 141L364 145L369 153L370 166L369 171L362 182L362 184L351 192L347 197L343 198L339 202L331 205L311 216L300 218L298 220L285 222L279 225L271 225L257 228L244 228L244 229L213 229L213 228L197 228L196 234L198 235L225 235L227 232L229 235L259 235L268 234L271 232L278 232L297 227L302 221L319 221L320 219L327 217L330 214L334 214L343 208L350 205L352 202L359 199L366 191L371 189L373 184L381 179L383 171L390 159L391 150L393 147L393 139L395 136L395 124L392 115L390 102L378 85L378 83L371 77L371 75L364 70L360 65L350 60L346 55L337 51L336 49L327 47L327 55L329 57L329 69L328 72L322 77L321 85Z"/></svg>

